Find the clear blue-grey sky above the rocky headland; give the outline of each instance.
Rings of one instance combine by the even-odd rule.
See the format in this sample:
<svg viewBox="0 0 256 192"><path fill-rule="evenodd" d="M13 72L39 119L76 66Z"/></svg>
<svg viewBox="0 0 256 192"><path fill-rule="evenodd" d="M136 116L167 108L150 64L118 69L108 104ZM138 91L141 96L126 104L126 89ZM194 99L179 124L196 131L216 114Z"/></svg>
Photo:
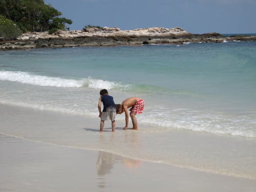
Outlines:
<svg viewBox="0 0 256 192"><path fill-rule="evenodd" d="M45 0L84 26L138 28L181 27L194 34L256 33L256 0Z"/></svg>

